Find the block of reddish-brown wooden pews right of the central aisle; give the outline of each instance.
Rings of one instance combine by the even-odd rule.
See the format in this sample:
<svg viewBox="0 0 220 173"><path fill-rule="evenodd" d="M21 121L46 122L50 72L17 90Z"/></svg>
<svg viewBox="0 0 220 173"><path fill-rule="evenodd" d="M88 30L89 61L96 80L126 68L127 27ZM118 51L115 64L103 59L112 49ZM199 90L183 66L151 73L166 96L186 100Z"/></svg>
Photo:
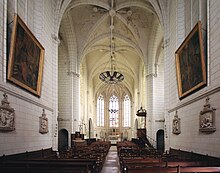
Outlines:
<svg viewBox="0 0 220 173"><path fill-rule="evenodd" d="M192 159L181 155L162 153L149 147L139 147L131 141L118 142L121 173L180 173L220 172L220 162Z"/></svg>

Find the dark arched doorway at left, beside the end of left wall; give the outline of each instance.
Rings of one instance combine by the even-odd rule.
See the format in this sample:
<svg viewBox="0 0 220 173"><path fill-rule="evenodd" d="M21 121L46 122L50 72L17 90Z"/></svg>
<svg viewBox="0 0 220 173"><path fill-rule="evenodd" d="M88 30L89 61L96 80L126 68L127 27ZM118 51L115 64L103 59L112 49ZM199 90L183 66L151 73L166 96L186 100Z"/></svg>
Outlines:
<svg viewBox="0 0 220 173"><path fill-rule="evenodd" d="M65 151L66 149L68 149L68 131L61 129L58 132L58 150Z"/></svg>

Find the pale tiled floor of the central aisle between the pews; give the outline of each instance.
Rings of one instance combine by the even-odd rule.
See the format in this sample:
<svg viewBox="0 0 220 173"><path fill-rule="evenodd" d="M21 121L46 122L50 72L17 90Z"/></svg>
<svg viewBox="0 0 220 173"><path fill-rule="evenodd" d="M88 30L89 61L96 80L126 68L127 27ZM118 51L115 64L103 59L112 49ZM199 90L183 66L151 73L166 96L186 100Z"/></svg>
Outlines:
<svg viewBox="0 0 220 173"><path fill-rule="evenodd" d="M106 156L101 173L120 173L116 146L111 146L108 155Z"/></svg>

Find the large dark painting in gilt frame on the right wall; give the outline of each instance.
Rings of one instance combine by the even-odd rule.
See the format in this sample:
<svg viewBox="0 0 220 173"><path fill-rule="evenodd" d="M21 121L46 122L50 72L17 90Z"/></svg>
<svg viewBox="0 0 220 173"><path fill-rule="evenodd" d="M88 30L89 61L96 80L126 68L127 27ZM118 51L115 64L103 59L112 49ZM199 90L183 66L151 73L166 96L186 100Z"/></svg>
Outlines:
<svg viewBox="0 0 220 173"><path fill-rule="evenodd" d="M206 86L206 64L199 21L175 52L179 98Z"/></svg>

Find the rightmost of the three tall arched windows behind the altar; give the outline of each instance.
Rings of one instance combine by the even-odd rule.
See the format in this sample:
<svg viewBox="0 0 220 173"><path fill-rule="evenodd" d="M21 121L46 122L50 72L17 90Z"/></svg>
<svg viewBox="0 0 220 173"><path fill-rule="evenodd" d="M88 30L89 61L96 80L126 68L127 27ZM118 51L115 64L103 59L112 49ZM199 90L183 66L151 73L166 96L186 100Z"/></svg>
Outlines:
<svg viewBox="0 0 220 173"><path fill-rule="evenodd" d="M124 97L124 127L131 124L131 100L128 95Z"/></svg>

